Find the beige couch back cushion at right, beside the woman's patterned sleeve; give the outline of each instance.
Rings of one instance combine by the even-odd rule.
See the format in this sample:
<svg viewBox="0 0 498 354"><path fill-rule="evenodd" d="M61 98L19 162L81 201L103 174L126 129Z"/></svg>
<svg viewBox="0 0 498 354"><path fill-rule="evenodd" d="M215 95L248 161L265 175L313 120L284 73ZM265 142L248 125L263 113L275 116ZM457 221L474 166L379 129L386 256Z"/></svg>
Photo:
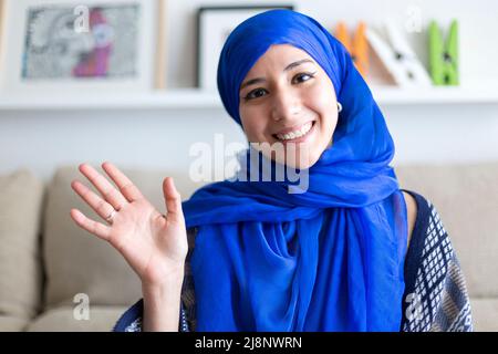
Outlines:
<svg viewBox="0 0 498 354"><path fill-rule="evenodd" d="M498 163L397 166L401 186L438 210L471 296L498 298Z"/></svg>

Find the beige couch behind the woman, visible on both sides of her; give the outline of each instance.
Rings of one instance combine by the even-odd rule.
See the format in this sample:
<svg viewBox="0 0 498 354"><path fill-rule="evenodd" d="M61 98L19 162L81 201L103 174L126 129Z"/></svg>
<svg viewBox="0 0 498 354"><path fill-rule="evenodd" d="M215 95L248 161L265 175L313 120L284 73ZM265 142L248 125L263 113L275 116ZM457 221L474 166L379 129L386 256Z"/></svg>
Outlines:
<svg viewBox="0 0 498 354"><path fill-rule="evenodd" d="M159 210L165 176L184 199L198 187L180 174L124 170ZM497 331L498 163L396 170L403 188L439 210L467 277L476 330ZM110 331L141 298L122 257L71 220L72 207L94 216L72 191L74 178L84 180L76 166L59 168L48 186L29 169L0 176L0 331Z"/></svg>

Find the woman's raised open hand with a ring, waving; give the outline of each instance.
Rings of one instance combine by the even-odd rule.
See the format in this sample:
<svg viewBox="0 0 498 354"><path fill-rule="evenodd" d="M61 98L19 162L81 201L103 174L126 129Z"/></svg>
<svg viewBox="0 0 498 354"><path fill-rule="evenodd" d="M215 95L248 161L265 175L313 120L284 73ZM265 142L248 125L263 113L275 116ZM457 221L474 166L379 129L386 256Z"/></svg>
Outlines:
<svg viewBox="0 0 498 354"><path fill-rule="evenodd" d="M79 180L73 180L71 187L105 223L77 209L71 209L71 218L120 251L143 284L160 284L183 274L188 242L181 198L173 178L163 180L167 209L167 215L163 215L117 167L104 163L102 168L118 189L87 164L79 169L101 196Z"/></svg>

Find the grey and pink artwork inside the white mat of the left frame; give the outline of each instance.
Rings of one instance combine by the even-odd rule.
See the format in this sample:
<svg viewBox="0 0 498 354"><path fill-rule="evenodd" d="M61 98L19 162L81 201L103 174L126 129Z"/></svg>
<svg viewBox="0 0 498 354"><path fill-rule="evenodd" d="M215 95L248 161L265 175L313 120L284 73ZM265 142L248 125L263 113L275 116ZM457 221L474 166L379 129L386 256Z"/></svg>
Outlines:
<svg viewBox="0 0 498 354"><path fill-rule="evenodd" d="M27 9L22 80L136 77L139 4L80 9L87 28L71 6Z"/></svg>

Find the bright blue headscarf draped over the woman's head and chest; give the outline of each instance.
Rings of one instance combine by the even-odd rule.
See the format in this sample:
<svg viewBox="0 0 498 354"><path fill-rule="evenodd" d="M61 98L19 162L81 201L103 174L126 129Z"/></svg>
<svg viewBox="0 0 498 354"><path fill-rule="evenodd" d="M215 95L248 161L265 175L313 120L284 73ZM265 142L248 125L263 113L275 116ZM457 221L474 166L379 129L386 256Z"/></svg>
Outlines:
<svg viewBox="0 0 498 354"><path fill-rule="evenodd" d="M242 80L283 43L305 51L333 83L343 106L333 145L309 168L305 192L289 194L287 178L225 180L183 204L187 227L198 228L197 331L398 331L406 206L384 117L344 46L299 12L257 14L221 51L222 103L240 124Z"/></svg>

